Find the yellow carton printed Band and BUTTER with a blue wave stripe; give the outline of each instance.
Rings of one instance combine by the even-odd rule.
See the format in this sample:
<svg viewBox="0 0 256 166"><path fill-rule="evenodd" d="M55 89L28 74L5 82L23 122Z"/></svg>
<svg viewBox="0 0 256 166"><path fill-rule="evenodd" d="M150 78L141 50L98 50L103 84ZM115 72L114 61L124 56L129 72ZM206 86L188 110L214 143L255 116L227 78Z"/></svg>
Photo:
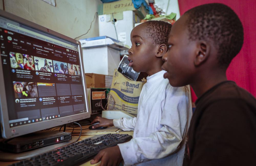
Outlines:
<svg viewBox="0 0 256 166"><path fill-rule="evenodd" d="M107 110L123 110L137 116L138 101L146 81L132 81L115 69Z"/></svg>

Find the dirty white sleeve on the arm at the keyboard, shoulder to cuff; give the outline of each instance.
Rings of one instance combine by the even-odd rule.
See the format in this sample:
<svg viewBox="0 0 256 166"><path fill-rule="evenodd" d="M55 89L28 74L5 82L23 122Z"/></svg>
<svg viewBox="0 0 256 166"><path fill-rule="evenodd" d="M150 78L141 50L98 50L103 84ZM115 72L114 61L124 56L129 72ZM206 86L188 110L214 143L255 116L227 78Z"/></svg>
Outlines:
<svg viewBox="0 0 256 166"><path fill-rule="evenodd" d="M178 150L185 132L182 126L186 126L189 116L187 111L189 96L186 95L184 87L171 88L171 92L166 93L165 99L161 101L162 128L148 137L137 137L118 144L125 165L164 158Z"/></svg>

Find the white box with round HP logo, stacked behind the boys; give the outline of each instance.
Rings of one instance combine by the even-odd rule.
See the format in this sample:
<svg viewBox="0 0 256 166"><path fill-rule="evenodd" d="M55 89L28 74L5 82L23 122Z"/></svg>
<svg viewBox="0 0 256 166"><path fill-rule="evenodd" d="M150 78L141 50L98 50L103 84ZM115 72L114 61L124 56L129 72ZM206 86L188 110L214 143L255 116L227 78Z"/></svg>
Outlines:
<svg viewBox="0 0 256 166"><path fill-rule="evenodd" d="M134 13L134 11L124 11L113 14L115 26L113 24L112 14L99 15L99 35L107 35L115 40L119 40L127 48L130 48L131 32L134 24L141 22L141 19ZM115 31L116 30L116 31ZM118 38L116 37L118 36Z"/></svg>

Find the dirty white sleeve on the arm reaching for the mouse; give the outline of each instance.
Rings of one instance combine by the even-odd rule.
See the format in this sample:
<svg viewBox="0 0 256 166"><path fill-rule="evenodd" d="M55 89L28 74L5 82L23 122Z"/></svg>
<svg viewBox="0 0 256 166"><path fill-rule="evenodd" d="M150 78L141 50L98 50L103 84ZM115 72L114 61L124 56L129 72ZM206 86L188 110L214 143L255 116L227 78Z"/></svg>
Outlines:
<svg viewBox="0 0 256 166"><path fill-rule="evenodd" d="M113 124L115 127L122 129L123 131L133 131L136 123L136 117L133 118L120 118L113 119Z"/></svg>

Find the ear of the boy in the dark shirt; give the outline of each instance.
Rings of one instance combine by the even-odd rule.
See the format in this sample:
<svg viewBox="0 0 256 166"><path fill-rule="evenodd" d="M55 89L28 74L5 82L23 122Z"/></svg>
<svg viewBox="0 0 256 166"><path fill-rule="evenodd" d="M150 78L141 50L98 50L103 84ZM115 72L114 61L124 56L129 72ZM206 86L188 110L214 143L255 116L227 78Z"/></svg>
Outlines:
<svg viewBox="0 0 256 166"><path fill-rule="evenodd" d="M194 59L194 65L199 66L204 63L210 53L210 45L205 41L200 41L197 45L196 57Z"/></svg>

